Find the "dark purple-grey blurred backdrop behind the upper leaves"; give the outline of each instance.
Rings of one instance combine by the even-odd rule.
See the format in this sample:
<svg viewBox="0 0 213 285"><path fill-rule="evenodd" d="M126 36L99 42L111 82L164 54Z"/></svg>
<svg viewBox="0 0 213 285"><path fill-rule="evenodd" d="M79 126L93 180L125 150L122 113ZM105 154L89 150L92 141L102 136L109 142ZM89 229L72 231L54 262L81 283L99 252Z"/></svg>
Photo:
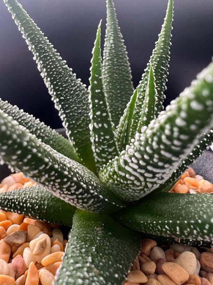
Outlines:
<svg viewBox="0 0 213 285"><path fill-rule="evenodd" d="M104 0L20 0L82 82L89 83L91 50L97 25L105 29ZM137 86L160 32L167 1L115 0L134 85ZM165 104L176 98L213 55L212 0L176 0L171 68ZM32 113L53 128L61 127L32 54L0 2L0 97ZM103 41L102 41L103 43Z"/></svg>

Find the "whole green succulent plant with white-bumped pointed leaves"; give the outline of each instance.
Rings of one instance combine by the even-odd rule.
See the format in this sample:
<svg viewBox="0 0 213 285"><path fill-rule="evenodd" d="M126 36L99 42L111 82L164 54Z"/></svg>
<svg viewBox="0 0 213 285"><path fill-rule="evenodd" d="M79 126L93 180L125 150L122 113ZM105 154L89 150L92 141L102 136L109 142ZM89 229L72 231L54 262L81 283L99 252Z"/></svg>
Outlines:
<svg viewBox="0 0 213 285"><path fill-rule="evenodd" d="M173 0L134 90L113 0L89 90L16 0L3 0L34 55L68 139L0 102L0 157L37 186L0 195L5 211L71 226L55 284L120 284L141 233L213 241L213 197L168 193L212 137L213 63L163 110ZM128 103L129 102L129 103Z"/></svg>

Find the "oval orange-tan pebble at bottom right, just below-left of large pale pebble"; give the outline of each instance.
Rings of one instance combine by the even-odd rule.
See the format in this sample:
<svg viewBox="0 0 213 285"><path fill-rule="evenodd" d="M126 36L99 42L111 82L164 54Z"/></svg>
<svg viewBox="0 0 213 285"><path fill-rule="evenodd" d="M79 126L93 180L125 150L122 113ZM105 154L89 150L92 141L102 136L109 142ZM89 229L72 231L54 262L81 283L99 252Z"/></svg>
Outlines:
<svg viewBox="0 0 213 285"><path fill-rule="evenodd" d="M174 262L165 262L162 264L162 270L178 285L183 284L189 278L188 272L179 264Z"/></svg>

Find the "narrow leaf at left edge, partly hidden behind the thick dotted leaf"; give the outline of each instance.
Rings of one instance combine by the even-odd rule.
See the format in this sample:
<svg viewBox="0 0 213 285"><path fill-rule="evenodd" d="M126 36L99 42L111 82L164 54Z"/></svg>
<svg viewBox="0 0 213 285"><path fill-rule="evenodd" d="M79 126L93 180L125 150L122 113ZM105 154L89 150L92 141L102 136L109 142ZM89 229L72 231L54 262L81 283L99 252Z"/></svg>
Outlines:
<svg viewBox="0 0 213 285"><path fill-rule="evenodd" d="M9 104L7 101L0 99L0 109L17 121L20 125L26 127L31 134L35 135L42 142L71 159L79 161L75 149L70 142L58 134L55 130L46 126L44 123L35 119L32 115L18 109L17 106Z"/></svg>

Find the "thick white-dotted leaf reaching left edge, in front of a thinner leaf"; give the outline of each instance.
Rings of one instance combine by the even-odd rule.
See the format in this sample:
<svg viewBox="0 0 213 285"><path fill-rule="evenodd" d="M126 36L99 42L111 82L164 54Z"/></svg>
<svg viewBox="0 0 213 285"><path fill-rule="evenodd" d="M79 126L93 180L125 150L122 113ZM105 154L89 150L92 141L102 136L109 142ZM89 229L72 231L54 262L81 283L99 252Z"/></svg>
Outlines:
<svg viewBox="0 0 213 285"><path fill-rule="evenodd" d="M40 142L2 110L0 158L55 196L83 210L115 211L122 206L93 172Z"/></svg>

